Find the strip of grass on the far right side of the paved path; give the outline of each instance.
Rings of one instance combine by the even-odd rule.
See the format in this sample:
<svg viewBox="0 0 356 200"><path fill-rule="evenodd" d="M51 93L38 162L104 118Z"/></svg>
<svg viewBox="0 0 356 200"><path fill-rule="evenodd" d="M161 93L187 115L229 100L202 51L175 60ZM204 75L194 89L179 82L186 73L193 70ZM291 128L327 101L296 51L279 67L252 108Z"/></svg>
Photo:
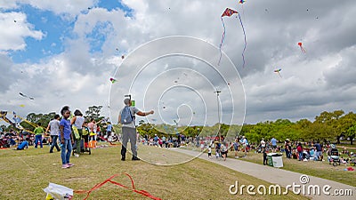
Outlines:
<svg viewBox="0 0 356 200"><path fill-rule="evenodd" d="M239 152L239 156L242 156L243 153ZM320 177L326 180L334 180L336 182L341 182L350 186L356 186L356 172L355 171L344 171L345 168L349 167L348 164L345 166L344 164L333 166L328 163L327 154L324 155L323 162L319 161L308 161L308 162L300 162L296 159L287 159L285 155L283 155L283 167L282 169L292 172L299 172L315 177ZM233 157L234 155L231 153L229 157ZM346 157L346 156L344 156ZM241 160L246 160L249 162L253 162L256 164L263 164L263 154L255 154L254 152L249 152L247 157L239 158ZM355 168L355 167L353 167Z"/></svg>

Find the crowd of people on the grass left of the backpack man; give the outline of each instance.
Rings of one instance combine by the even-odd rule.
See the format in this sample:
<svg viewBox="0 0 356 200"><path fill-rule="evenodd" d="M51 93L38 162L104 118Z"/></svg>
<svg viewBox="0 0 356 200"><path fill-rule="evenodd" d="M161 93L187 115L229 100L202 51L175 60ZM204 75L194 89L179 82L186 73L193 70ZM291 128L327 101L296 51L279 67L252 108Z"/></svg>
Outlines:
<svg viewBox="0 0 356 200"><path fill-rule="evenodd" d="M72 145L76 148L73 151L74 156L78 157L80 152L95 148L96 140L107 140L112 133L112 125L109 122L102 123L106 130L101 132L100 122L95 122L93 118L85 120L80 110L75 110L72 117L70 114L69 107L64 107L61 109L61 116L55 115L46 128L37 123L33 132L0 130L0 148L23 150L29 146L44 148L44 144L48 144L49 153L53 153L54 148L61 151L62 168L69 168L74 165L69 162ZM84 140L84 147L81 140Z"/></svg>

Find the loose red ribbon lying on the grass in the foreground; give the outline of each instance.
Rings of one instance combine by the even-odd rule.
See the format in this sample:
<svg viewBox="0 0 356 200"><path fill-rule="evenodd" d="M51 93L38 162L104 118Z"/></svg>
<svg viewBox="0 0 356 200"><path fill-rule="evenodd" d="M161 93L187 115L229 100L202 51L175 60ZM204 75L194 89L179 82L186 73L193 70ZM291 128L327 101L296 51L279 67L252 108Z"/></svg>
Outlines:
<svg viewBox="0 0 356 200"><path fill-rule="evenodd" d="M137 193L137 194L140 194L140 195L142 195L142 196L147 196L147 197L150 197L151 199L154 199L154 200L161 200L161 198L158 198L158 197L156 197L156 196L152 196L152 195L150 195L149 192L147 192L147 191L145 191L145 190L136 190L136 189L134 188L134 180L133 180L133 178L132 178L128 173L124 173L124 174L131 180L131 186L132 186L132 188L129 188L129 187L127 187L127 186L125 186L125 185L123 185L123 184L121 184L121 183L118 183L118 182L116 182L116 181L113 181L113 180L112 180L113 178L115 178L115 177L117 177L118 175L120 175L120 174L114 174L114 175L112 175L109 179L104 180L103 182L96 184L93 188L91 188L91 189L89 189L89 190L87 190L87 191L85 191L85 190L75 190L74 193L77 193L77 194L85 194L85 193L87 193L87 195L85 196L85 199L84 199L84 200L86 200L86 199L89 197L90 193L93 192L93 190L95 190L95 189L97 189L97 188L101 188L101 186L105 185L107 182L110 182L110 183L115 184L115 185L117 185L117 186L120 186L120 187L122 187L122 188L131 189L133 192L135 192L135 193Z"/></svg>

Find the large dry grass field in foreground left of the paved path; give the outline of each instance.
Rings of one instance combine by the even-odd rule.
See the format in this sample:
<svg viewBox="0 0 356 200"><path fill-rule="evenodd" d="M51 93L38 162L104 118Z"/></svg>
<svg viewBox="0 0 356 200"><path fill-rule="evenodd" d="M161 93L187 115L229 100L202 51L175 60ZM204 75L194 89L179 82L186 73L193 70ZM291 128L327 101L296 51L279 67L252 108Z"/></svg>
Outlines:
<svg viewBox="0 0 356 200"><path fill-rule="evenodd" d="M263 184L267 188L270 183L201 159L169 166L158 165L157 162L165 162L161 159L150 161L156 164L130 159L123 162L120 161L120 148L119 145L96 148L93 149L92 155L71 157L70 162L76 165L69 169L61 169L60 152L49 154L48 146L38 149L30 147L23 151L2 149L0 199L44 199L45 193L42 189L46 188L49 182L74 190L88 190L110 176L124 172L133 177L136 189L146 190L152 196L162 199L306 199L291 193L287 196L249 196L246 191L242 196L232 196L229 187L236 180L239 180L239 184ZM139 156L162 156L162 152L157 149L139 148ZM166 156L182 156L179 153L174 154ZM176 161L179 162L180 159ZM131 186L131 180L125 175L116 177L114 181ZM85 196L75 194L74 199L84 199ZM107 183L94 190L88 199L150 198Z"/></svg>

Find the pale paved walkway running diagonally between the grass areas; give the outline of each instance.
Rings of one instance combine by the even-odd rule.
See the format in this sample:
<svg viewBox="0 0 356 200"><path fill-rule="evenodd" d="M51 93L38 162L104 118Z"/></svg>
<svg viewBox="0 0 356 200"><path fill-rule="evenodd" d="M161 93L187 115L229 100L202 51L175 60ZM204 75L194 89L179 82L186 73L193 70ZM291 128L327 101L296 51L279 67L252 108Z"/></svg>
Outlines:
<svg viewBox="0 0 356 200"><path fill-rule="evenodd" d="M182 148L174 148L174 151L179 151L181 153L190 155L190 156L198 156L198 154L200 154L200 152L197 151L192 151L192 150L187 150L187 149L182 149ZM279 168L274 168L271 166L267 166L267 165L262 165L262 164L254 164L254 163L250 163L247 161L242 161L239 159L234 159L234 158L227 158L226 161L223 161L223 159L219 159L217 160L214 156L213 158L207 158L206 154L202 154L200 156L198 156L200 159L203 160L207 160L210 161L212 163L215 164L221 164L227 168L230 168L232 170L235 170L237 172L242 172L245 173L247 175L253 176L257 179L260 180L265 180L267 182L270 182L271 184L279 184L281 187L286 187L287 185L292 185L293 183L295 183L295 185L301 185L301 188L305 188L305 191L303 193L303 190L301 192L301 194L305 194L305 196L308 196L308 186L309 185L318 185L320 187L320 195L313 195L313 189L310 189L312 195L309 195L309 197L312 197L312 199L354 199L356 200L356 188L349 186L349 185L345 185L343 183L339 183L336 181L332 181L332 180L325 180L325 179L320 179L318 177L314 177L314 176L307 176L307 177L303 177L303 180L308 180L309 182L306 184L302 184L301 182L301 176L303 175L302 173L298 173L298 172L290 172L290 171L286 171L286 170L282 170ZM346 174L347 172L345 172ZM332 175L332 174L330 174ZM355 180L356 181L356 180ZM233 184L233 183L231 183ZM330 186L329 190L328 190L328 186ZM303 187L305 186L305 187ZM257 186L255 186L257 187ZM323 192L323 187L327 187L326 191L330 193L330 195L326 195ZM290 191L292 188L290 188ZM295 188L295 191L298 188ZM341 189L341 190L336 190L336 189ZM349 189L349 191L346 191L345 189ZM246 191L246 190L245 190ZM256 189L255 189L256 191ZM282 191L285 191L285 189L282 189ZM336 196L335 194L338 193L350 193L350 191L352 192L352 195L349 196Z"/></svg>

